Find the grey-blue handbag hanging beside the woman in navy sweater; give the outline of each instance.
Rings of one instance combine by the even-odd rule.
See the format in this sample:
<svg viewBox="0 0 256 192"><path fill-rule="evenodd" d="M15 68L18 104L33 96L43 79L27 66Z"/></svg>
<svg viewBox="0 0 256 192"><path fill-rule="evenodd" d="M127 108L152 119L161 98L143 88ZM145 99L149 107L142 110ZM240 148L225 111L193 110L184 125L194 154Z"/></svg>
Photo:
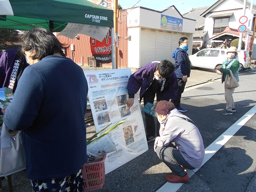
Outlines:
<svg viewBox="0 0 256 192"><path fill-rule="evenodd" d="M0 145L0 177L26 169L22 131L10 134L3 123Z"/></svg>

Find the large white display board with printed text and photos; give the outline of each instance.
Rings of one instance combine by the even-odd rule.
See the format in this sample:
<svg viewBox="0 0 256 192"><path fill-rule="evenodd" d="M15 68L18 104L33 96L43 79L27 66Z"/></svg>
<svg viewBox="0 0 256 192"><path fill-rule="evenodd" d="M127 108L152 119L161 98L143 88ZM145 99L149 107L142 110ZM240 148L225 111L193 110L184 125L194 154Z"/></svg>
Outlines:
<svg viewBox="0 0 256 192"><path fill-rule="evenodd" d="M140 105L135 94L133 106L127 109L126 86L131 69L85 71L84 74L89 87L88 97L96 131L110 123L114 125L127 119L108 134L115 143L116 150L107 154L107 174L148 150Z"/></svg>

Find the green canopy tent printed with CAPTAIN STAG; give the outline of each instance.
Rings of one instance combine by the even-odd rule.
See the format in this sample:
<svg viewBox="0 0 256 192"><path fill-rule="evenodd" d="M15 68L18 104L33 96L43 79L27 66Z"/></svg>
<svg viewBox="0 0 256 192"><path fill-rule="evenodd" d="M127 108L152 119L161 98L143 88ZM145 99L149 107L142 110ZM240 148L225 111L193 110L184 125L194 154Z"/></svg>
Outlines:
<svg viewBox="0 0 256 192"><path fill-rule="evenodd" d="M68 22L114 27L114 14L113 10L86 0L0 1L0 28L43 27L58 32Z"/></svg>

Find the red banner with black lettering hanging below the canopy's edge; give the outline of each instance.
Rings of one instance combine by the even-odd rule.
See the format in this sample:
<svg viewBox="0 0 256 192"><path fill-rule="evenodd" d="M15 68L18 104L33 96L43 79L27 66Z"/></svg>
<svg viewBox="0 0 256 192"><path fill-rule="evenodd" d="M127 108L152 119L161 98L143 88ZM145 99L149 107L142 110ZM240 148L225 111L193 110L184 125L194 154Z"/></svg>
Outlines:
<svg viewBox="0 0 256 192"><path fill-rule="evenodd" d="M111 29L102 42L90 37L91 52L97 63L112 62L111 56Z"/></svg>

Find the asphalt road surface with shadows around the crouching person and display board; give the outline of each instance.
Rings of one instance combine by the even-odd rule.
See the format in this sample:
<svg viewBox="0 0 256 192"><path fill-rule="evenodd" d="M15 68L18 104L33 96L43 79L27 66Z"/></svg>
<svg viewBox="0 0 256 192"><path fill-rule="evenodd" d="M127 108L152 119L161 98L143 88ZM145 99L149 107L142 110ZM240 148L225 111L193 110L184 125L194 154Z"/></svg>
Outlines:
<svg viewBox="0 0 256 192"><path fill-rule="evenodd" d="M148 151L106 174L103 187L94 191L256 191L256 69L239 74L233 115L220 114L226 107L220 77L211 70L193 69L182 94L181 105L188 110L184 114L198 125L207 151L203 166L188 172L189 183L166 183L164 177L171 171L158 159L151 141ZM87 133L95 133L93 125L87 125ZM6 179L2 182L7 192ZM13 174L12 182L13 191L31 191L23 171Z"/></svg>

